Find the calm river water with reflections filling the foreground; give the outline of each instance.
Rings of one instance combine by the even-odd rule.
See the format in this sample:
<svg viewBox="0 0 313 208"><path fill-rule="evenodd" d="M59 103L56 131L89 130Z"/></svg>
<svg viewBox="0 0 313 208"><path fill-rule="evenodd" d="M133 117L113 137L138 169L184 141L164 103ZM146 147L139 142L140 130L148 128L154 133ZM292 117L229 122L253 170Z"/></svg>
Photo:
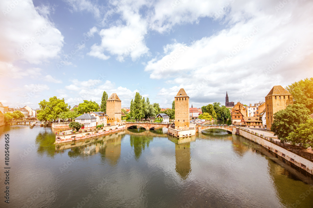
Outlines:
<svg viewBox="0 0 313 208"><path fill-rule="evenodd" d="M311 176L219 129L179 140L128 129L58 145L50 127L4 126L0 136L0 168L10 167L0 207L313 207Z"/></svg>

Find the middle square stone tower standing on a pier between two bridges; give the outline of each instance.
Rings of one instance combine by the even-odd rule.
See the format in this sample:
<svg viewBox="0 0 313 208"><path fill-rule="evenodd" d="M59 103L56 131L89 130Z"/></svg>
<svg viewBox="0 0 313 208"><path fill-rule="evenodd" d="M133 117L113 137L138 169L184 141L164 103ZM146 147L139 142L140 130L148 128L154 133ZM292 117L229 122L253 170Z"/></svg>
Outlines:
<svg viewBox="0 0 313 208"><path fill-rule="evenodd" d="M183 88L175 97L175 129L189 129L189 97Z"/></svg>

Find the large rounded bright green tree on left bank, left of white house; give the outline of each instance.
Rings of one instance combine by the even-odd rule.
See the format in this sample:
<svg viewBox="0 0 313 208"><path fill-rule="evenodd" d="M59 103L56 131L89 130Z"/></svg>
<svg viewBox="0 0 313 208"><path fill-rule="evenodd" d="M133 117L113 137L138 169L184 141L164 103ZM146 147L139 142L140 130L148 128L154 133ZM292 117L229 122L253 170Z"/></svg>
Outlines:
<svg viewBox="0 0 313 208"><path fill-rule="evenodd" d="M62 112L68 111L68 104L65 103L64 98L58 99L56 96L49 98L49 101L43 100L39 103L37 118L40 121L48 121L57 119Z"/></svg>

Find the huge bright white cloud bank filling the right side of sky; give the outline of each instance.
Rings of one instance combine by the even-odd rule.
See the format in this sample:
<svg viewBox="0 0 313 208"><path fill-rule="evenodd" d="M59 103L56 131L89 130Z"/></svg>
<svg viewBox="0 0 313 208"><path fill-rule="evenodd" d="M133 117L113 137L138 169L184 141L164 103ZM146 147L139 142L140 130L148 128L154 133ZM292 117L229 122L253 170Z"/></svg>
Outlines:
<svg viewBox="0 0 313 208"><path fill-rule="evenodd" d="M306 12L313 2L289 2L278 12L275 5L234 2L226 16L229 29L191 44L164 46L164 54L145 67L151 79L175 85L159 92L166 96L163 103L179 88L199 105L224 100L226 90L231 101L253 102L264 99L273 85L313 76L312 62L307 61L313 52L313 28L308 27L313 19Z"/></svg>

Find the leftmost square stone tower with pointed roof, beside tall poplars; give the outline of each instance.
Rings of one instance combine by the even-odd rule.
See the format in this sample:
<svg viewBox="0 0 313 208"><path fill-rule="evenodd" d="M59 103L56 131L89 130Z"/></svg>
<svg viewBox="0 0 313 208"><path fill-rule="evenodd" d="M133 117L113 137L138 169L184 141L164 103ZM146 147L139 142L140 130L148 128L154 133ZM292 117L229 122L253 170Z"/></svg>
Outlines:
<svg viewBox="0 0 313 208"><path fill-rule="evenodd" d="M107 123L121 124L122 121L122 104L116 93L111 94L106 100L106 114L108 115Z"/></svg>

